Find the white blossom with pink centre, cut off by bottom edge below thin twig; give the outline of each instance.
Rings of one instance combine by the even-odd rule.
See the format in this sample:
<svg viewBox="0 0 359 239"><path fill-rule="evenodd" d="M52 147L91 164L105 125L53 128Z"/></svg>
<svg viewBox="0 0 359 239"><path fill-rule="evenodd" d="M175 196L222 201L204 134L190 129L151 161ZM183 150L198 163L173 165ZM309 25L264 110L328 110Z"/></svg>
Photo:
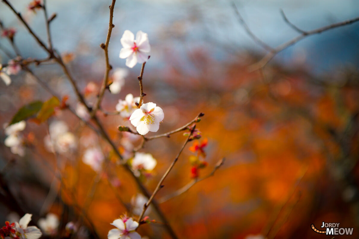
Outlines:
<svg viewBox="0 0 359 239"><path fill-rule="evenodd" d="M116 219L111 225L116 226L117 229L108 231L108 239L141 239L140 234L135 231L138 223L132 218Z"/></svg>

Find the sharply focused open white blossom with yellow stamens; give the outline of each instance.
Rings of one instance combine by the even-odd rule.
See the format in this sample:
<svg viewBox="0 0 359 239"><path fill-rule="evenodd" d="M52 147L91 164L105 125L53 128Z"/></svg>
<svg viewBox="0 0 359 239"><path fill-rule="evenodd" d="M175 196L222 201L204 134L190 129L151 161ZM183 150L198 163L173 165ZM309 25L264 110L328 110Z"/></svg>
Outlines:
<svg viewBox="0 0 359 239"><path fill-rule="evenodd" d="M163 120L163 110L155 103L148 102L142 104L140 109L132 113L130 117L131 124L136 127L139 134L145 135L149 131L157 132L159 123Z"/></svg>

